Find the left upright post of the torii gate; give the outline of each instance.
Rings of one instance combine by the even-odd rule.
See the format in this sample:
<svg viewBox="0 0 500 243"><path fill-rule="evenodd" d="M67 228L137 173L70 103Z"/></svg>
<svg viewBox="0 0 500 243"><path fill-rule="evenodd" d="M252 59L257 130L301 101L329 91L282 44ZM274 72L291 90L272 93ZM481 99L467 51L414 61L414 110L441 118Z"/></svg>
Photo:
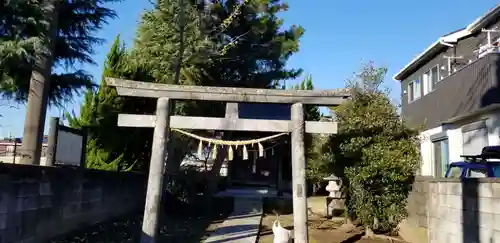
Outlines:
<svg viewBox="0 0 500 243"><path fill-rule="evenodd" d="M159 232L159 213L162 194L164 162L168 156L166 144L170 131L169 98L158 98L156 104L156 122L153 134L153 149L149 165L148 188L144 219L142 222L141 243L155 243Z"/></svg>

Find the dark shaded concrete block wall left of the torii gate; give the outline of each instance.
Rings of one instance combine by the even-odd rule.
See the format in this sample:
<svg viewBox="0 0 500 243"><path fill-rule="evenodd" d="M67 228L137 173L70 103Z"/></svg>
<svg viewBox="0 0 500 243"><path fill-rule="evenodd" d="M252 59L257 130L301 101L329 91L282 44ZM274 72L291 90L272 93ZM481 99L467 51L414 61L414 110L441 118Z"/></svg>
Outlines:
<svg viewBox="0 0 500 243"><path fill-rule="evenodd" d="M0 164L0 243L45 242L143 207L146 176Z"/></svg>

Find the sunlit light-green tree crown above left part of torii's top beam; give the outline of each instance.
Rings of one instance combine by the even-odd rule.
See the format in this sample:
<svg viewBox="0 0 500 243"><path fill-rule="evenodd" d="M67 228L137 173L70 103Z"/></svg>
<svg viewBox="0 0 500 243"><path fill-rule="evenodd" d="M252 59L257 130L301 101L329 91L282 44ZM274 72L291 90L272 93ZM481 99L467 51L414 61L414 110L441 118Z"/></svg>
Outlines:
<svg viewBox="0 0 500 243"><path fill-rule="evenodd" d="M182 59L182 71L189 70L193 65L207 61L203 54L211 44L202 35L197 10L189 2L161 0L141 18L131 61L148 70L154 82L200 84L200 80L185 76L175 79L177 60ZM183 36L180 36L181 32Z"/></svg>

